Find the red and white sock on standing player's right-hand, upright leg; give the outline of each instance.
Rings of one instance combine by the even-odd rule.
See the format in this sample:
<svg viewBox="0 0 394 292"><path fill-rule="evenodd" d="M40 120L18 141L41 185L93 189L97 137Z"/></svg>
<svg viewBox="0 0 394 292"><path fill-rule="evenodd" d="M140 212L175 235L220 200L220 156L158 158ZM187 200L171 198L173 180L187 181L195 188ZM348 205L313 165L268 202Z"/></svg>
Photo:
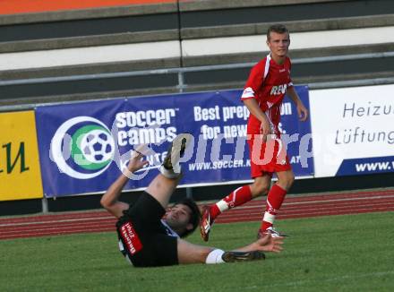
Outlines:
<svg viewBox="0 0 394 292"><path fill-rule="evenodd" d="M272 185L267 196L264 218L261 221L262 230L272 227L275 216L278 214L282 202L285 201L286 193L287 191L282 189L279 185Z"/></svg>

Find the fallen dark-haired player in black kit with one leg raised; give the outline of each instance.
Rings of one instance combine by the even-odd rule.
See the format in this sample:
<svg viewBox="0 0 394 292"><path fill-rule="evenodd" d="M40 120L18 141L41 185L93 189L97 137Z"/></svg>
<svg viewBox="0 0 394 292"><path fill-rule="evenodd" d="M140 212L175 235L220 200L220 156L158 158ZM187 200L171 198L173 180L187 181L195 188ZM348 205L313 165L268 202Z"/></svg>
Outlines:
<svg viewBox="0 0 394 292"><path fill-rule="evenodd" d="M167 208L171 194L181 178L182 157L189 134L176 137L160 167L160 173L135 203L118 201L128 176L148 162L143 160L143 147L133 151L127 169L101 198L101 205L118 221L119 248L135 267L167 266L179 263L220 263L264 259L264 253L282 250L283 237L263 236L251 245L225 252L221 249L193 245L181 237L198 227L201 215L192 200L185 199ZM133 194L137 195L137 194Z"/></svg>

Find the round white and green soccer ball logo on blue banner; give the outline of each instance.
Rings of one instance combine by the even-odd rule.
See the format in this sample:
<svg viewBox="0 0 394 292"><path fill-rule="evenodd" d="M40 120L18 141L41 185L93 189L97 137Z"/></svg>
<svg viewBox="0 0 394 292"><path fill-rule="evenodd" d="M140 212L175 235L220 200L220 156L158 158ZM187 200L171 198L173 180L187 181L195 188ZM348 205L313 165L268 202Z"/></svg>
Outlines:
<svg viewBox="0 0 394 292"><path fill-rule="evenodd" d="M106 125L90 116L77 116L57 129L51 141L50 157L64 174L90 179L109 167L115 148Z"/></svg>

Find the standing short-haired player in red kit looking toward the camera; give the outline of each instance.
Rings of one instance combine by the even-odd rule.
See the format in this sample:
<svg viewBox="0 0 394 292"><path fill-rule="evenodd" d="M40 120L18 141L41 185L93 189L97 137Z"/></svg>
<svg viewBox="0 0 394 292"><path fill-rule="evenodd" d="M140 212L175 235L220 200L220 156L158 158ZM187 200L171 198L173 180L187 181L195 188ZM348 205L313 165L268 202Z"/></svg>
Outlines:
<svg viewBox="0 0 394 292"><path fill-rule="evenodd" d="M241 186L219 202L204 208L201 220L204 241L208 241L212 224L221 212L267 193L266 210L258 237L266 233L284 236L273 228L273 223L295 179L278 128L280 106L285 94L295 103L301 121L306 120L308 111L290 78L291 63L287 56L290 37L287 28L281 24L270 26L267 45L270 55L253 66L241 97L251 114L247 124L247 142L254 181L252 185ZM270 187L273 173L277 174L278 181Z"/></svg>

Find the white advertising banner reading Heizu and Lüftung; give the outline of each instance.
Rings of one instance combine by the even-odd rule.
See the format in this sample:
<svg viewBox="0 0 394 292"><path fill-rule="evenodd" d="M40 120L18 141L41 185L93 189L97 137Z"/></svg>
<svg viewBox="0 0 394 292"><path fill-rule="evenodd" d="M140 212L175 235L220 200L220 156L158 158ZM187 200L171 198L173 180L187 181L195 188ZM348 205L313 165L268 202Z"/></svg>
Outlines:
<svg viewBox="0 0 394 292"><path fill-rule="evenodd" d="M313 90L315 176L394 171L394 85Z"/></svg>

